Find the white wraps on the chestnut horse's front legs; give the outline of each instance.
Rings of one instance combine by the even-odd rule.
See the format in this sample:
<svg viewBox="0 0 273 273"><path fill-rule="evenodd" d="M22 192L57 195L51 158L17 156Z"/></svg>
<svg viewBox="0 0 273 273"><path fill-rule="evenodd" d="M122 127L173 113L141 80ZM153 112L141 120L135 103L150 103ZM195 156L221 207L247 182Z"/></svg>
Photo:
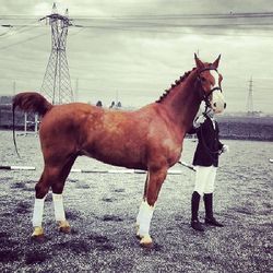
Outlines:
<svg viewBox="0 0 273 273"><path fill-rule="evenodd" d="M154 206L143 201L140 206L140 211L136 217L136 224L139 225L139 235L141 237L147 236L150 232L150 224L153 217Z"/></svg>

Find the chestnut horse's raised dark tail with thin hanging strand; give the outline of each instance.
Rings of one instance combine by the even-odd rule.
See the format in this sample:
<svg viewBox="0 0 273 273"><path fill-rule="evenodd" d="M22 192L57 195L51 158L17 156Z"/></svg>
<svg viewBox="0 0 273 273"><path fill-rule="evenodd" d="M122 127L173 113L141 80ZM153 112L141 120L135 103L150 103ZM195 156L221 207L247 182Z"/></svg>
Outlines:
<svg viewBox="0 0 273 273"><path fill-rule="evenodd" d="M16 154L20 157L15 140L15 124L14 124L16 107L26 112L37 112L40 116L45 116L46 112L49 111L54 106L45 97L43 97L39 93L36 92L19 93L13 97L12 102L13 143L15 146Z"/></svg>

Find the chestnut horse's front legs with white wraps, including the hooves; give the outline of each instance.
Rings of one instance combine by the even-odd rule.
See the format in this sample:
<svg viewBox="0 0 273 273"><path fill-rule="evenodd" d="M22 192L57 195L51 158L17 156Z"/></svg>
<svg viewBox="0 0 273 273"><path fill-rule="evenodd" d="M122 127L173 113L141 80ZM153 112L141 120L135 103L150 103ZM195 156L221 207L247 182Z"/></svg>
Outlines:
<svg viewBox="0 0 273 273"><path fill-rule="evenodd" d="M167 170L161 169L149 174L149 181L145 189L145 200L141 203L136 224L139 225L138 237L141 238L140 244L145 247L152 246L153 241L150 236L150 226L154 213L155 202L162 188L162 183L166 178Z"/></svg>

